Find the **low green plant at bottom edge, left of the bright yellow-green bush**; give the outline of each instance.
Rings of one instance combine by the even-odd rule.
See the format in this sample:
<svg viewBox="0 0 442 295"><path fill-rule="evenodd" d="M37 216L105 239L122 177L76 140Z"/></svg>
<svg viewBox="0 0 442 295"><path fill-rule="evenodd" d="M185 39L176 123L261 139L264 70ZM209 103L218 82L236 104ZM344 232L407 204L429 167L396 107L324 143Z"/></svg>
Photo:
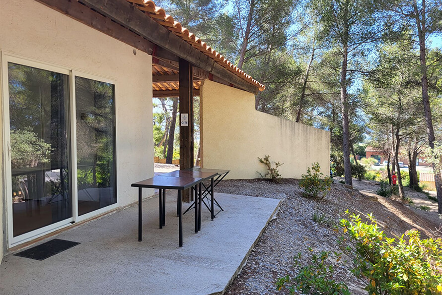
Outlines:
<svg viewBox="0 0 442 295"><path fill-rule="evenodd" d="M331 253L328 251L322 251L319 255L313 254L312 263L302 267L295 278L286 276L278 279L278 291L290 284L290 294L300 291L303 294L350 295L347 285L333 279L334 266L329 262L329 256ZM336 261L341 259L340 253L335 253L335 256ZM295 257L295 266L299 265L300 257L300 253Z"/></svg>

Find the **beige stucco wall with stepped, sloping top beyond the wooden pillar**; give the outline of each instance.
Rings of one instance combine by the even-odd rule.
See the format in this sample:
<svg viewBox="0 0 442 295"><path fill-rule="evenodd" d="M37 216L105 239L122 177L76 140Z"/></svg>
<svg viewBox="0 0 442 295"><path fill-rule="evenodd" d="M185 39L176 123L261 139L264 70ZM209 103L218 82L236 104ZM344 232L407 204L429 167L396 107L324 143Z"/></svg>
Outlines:
<svg viewBox="0 0 442 295"><path fill-rule="evenodd" d="M330 171L330 132L255 110L253 94L205 80L200 90L204 168L231 170L229 178L265 172L257 157L284 163L284 178L300 178L318 162Z"/></svg>

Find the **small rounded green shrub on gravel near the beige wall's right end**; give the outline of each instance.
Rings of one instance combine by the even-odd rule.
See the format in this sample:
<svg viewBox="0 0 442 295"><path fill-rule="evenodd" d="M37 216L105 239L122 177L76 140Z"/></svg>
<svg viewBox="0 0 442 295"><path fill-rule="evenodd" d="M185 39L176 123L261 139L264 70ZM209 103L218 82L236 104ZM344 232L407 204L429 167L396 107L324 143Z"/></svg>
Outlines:
<svg viewBox="0 0 442 295"><path fill-rule="evenodd" d="M299 180L299 187L304 189L304 192L314 198L322 194L321 199L325 197L327 191L330 190L332 179L324 177L320 172L321 167L318 163L311 164L311 168L307 168L307 174L303 174Z"/></svg>

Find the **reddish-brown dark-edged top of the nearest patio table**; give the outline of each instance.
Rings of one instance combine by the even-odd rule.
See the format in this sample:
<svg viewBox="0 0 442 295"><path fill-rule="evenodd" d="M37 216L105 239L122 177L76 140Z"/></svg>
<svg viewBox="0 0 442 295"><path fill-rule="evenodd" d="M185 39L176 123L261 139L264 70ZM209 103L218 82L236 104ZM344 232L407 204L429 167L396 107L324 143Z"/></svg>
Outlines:
<svg viewBox="0 0 442 295"><path fill-rule="evenodd" d="M194 177L154 176L143 181L132 183L131 186L143 188L187 189L203 180L203 178Z"/></svg>

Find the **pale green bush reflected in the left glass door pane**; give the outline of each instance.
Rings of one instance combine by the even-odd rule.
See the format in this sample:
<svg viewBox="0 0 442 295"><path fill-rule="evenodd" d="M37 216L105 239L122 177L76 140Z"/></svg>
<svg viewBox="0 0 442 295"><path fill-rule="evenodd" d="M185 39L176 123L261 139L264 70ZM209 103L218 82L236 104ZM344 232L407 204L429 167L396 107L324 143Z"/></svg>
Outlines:
<svg viewBox="0 0 442 295"><path fill-rule="evenodd" d="M11 146L14 147L11 150L12 169L36 167L39 163L49 161L51 144L28 129L11 130Z"/></svg>

